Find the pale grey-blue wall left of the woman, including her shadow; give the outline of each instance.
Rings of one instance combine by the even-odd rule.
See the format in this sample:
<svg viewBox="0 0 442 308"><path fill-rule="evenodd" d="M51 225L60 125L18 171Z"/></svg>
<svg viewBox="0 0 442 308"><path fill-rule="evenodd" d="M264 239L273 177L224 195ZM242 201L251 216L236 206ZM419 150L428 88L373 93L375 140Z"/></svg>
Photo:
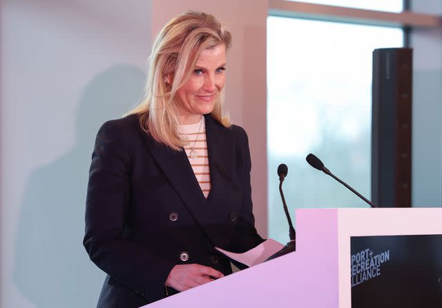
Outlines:
<svg viewBox="0 0 442 308"><path fill-rule="evenodd" d="M151 1L1 3L1 307L94 307L90 154L142 95Z"/></svg>

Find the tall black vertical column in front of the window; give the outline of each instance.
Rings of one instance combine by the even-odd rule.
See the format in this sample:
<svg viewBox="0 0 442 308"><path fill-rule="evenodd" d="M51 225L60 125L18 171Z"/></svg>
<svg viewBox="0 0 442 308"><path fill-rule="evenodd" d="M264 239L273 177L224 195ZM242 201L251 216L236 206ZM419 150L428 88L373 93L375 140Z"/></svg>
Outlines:
<svg viewBox="0 0 442 308"><path fill-rule="evenodd" d="M412 49L373 52L372 200L411 206Z"/></svg>

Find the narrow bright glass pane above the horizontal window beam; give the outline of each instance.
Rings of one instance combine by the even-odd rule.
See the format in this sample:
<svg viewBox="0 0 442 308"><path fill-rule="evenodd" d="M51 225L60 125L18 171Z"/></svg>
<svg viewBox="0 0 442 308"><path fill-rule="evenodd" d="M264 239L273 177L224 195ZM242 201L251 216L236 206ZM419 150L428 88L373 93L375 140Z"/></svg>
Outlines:
<svg viewBox="0 0 442 308"><path fill-rule="evenodd" d="M385 12L402 12L403 0L294 0L299 2L308 2L316 4L325 4L327 6L345 6L347 8L362 8L365 10L382 10Z"/></svg>

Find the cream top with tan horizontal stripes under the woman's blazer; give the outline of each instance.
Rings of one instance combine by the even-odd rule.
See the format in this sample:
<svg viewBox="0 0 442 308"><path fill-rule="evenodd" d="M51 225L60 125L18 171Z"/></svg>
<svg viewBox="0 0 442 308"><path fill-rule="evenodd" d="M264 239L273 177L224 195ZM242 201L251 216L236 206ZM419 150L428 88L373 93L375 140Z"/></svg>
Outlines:
<svg viewBox="0 0 442 308"><path fill-rule="evenodd" d="M200 184L204 197L207 198L211 189L209 155L207 154L206 126L204 117L196 124L178 126L180 135L189 142L184 146L189 162L191 163L193 173Z"/></svg>

